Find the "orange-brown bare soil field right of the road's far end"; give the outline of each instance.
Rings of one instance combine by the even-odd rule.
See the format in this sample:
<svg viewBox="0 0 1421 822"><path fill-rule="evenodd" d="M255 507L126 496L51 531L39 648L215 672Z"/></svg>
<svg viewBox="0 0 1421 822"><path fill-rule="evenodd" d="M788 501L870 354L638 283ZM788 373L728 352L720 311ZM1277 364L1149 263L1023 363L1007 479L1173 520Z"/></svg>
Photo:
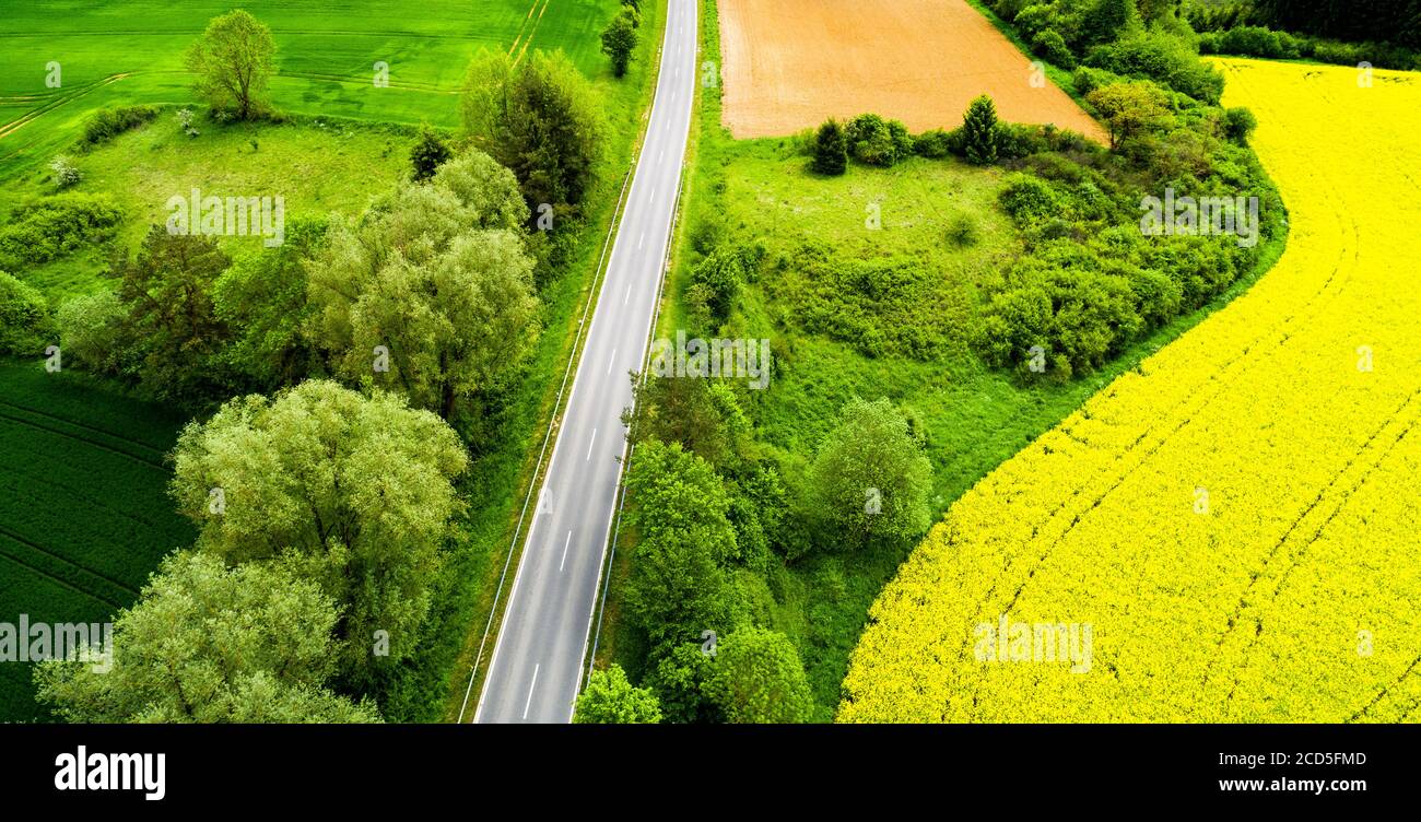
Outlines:
<svg viewBox="0 0 1421 822"><path fill-rule="evenodd" d="M776 137L864 112L914 132L955 128L990 94L1003 119L1054 124L1101 142L1064 91L1032 84L1017 51L965 0L719 0L725 125Z"/></svg>

